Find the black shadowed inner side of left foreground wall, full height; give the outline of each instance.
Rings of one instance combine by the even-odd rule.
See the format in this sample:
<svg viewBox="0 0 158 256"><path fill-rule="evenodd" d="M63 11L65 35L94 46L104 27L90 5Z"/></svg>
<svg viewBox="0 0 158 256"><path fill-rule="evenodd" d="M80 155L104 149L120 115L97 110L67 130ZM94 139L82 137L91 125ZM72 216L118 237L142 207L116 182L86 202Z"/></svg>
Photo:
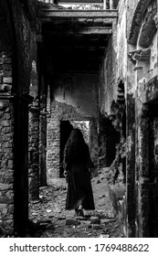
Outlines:
<svg viewBox="0 0 158 256"><path fill-rule="evenodd" d="M30 2L29 2L30 4ZM32 7L34 2L32 2ZM37 54L36 37L33 32L35 17L31 5L11 2L15 26L15 230L22 236L28 221L28 103L32 60ZM33 8L34 9L34 8ZM28 19L29 18L29 19ZM20 205L20 208L19 208Z"/></svg>

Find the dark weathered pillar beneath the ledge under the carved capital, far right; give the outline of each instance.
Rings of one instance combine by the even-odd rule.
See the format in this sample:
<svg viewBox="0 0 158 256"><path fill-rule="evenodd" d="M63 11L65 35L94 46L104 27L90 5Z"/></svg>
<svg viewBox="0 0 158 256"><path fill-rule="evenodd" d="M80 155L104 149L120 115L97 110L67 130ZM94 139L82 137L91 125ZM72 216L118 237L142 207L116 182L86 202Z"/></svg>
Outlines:
<svg viewBox="0 0 158 256"><path fill-rule="evenodd" d="M149 237L149 117L142 108L137 109L137 156L136 156L136 236Z"/></svg>

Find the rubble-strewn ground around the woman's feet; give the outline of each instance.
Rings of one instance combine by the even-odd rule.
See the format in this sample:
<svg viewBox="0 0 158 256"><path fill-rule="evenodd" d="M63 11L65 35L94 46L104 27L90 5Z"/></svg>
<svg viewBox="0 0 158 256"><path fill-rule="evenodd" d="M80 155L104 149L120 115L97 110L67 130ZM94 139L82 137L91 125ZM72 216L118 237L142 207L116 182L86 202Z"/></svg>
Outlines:
<svg viewBox="0 0 158 256"><path fill-rule="evenodd" d="M65 178L52 179L40 188L39 202L30 203L30 228L27 237L40 238L117 238L122 237L120 223L114 218L109 199L109 186L103 173L91 180L95 210L84 210L75 217L65 210L67 184Z"/></svg>

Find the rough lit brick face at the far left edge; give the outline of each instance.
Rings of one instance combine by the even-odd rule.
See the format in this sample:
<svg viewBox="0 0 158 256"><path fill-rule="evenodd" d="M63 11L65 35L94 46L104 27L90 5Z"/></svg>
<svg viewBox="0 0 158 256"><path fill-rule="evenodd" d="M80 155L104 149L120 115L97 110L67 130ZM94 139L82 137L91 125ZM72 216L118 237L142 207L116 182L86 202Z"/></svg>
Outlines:
<svg viewBox="0 0 158 256"><path fill-rule="evenodd" d="M14 105L11 99L12 52L0 5L0 234L14 228Z"/></svg>

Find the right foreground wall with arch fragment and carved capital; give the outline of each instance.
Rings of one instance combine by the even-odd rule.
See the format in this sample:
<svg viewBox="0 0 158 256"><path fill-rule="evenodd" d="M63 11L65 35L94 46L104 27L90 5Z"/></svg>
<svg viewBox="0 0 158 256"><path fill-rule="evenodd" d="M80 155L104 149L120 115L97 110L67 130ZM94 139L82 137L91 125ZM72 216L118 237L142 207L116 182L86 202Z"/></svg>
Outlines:
<svg viewBox="0 0 158 256"><path fill-rule="evenodd" d="M155 209L150 210L153 201L157 201L153 197L157 190L150 178L154 113L150 106L144 105L157 98L157 32L153 26L156 6L157 1L133 1L129 3L131 12L127 12L128 56L132 53L133 57L127 59L127 237L157 234Z"/></svg>

